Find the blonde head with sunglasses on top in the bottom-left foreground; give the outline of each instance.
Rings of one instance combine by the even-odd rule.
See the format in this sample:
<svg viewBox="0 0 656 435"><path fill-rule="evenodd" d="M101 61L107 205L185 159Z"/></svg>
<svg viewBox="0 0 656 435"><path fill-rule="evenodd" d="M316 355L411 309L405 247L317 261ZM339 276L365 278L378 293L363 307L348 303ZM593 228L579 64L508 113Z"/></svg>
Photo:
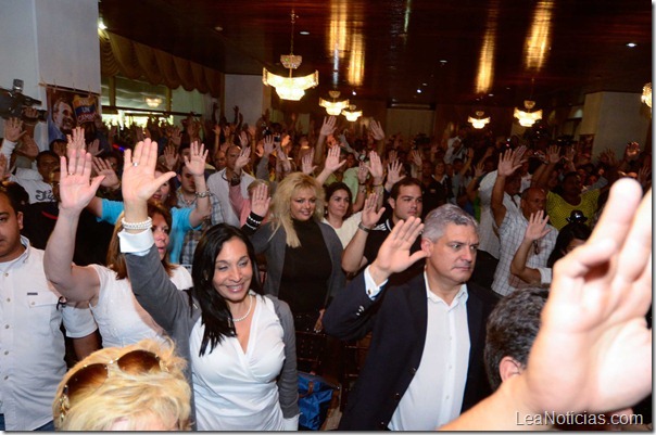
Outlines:
<svg viewBox="0 0 656 435"><path fill-rule="evenodd" d="M58 431L189 431L191 389L173 342L108 347L65 375L52 402Z"/></svg>

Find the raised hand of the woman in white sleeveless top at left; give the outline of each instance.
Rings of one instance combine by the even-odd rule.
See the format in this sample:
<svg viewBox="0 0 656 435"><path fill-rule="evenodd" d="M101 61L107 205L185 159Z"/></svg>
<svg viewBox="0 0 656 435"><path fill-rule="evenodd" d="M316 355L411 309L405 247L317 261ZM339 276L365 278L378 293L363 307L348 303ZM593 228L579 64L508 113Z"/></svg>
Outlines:
<svg viewBox="0 0 656 435"><path fill-rule="evenodd" d="M71 148L67 161L66 157L60 157L60 213L79 214L96 196L104 176L100 175L90 181L91 159L91 153Z"/></svg>

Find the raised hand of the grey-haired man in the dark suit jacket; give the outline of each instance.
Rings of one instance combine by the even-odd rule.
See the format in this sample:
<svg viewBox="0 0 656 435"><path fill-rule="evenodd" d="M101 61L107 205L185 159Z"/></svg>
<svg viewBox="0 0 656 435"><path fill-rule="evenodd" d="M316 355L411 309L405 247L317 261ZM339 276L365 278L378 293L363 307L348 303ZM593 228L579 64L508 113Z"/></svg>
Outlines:
<svg viewBox="0 0 656 435"><path fill-rule="evenodd" d="M425 251L411 254L411 247L422 230L421 219L415 216L394 225L369 267L369 273L377 284L387 280L392 273L401 272L428 256Z"/></svg>

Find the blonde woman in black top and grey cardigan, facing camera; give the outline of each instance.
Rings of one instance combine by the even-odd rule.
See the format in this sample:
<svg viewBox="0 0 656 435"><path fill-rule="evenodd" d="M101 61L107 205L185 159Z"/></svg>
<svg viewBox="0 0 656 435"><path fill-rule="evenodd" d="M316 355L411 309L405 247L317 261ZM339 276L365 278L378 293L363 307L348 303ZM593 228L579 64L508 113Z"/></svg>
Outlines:
<svg viewBox="0 0 656 435"><path fill-rule="evenodd" d="M324 207L320 184L292 172L278 184L270 220L251 235L255 252L266 256L264 293L287 302L295 329L302 331L323 330L324 309L345 283L342 244L321 222Z"/></svg>

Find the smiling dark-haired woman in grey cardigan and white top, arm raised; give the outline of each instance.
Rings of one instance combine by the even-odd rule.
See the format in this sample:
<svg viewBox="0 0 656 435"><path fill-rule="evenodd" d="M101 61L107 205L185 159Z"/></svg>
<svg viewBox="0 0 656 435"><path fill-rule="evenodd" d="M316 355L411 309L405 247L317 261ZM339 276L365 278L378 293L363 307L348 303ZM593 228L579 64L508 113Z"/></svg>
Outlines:
<svg viewBox="0 0 656 435"><path fill-rule="evenodd" d="M128 276L139 304L189 361L197 427L283 431L298 427L298 378L289 307L262 295L255 252L237 228L219 223L193 255L193 287L178 292L157 261L147 202L175 172L154 176L157 144L125 153L123 199ZM253 204L258 209L257 204Z"/></svg>

